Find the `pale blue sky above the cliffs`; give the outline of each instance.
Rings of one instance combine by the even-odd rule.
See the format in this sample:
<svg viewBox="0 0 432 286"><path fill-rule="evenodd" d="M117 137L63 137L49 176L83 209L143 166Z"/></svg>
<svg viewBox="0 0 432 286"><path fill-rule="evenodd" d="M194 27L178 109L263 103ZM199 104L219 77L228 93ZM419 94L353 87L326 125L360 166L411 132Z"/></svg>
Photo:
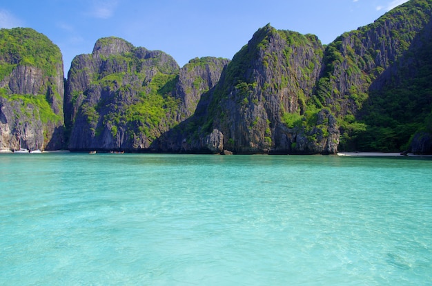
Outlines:
<svg viewBox="0 0 432 286"><path fill-rule="evenodd" d="M48 36L61 49L66 73L73 57L91 53L97 39L109 36L162 50L184 66L194 57L231 59L267 23L328 44L406 1L13 0L0 3L0 28Z"/></svg>

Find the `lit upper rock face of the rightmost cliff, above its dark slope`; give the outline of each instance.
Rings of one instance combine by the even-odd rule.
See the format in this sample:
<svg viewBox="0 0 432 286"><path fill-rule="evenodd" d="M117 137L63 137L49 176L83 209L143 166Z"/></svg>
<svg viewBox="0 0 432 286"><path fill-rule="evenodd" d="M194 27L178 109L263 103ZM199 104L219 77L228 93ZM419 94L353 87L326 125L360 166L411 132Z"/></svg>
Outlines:
<svg viewBox="0 0 432 286"><path fill-rule="evenodd" d="M317 101L336 115L356 115L371 91L397 84L395 77L411 61L398 60L430 20L431 4L410 1L337 37L326 47Z"/></svg>

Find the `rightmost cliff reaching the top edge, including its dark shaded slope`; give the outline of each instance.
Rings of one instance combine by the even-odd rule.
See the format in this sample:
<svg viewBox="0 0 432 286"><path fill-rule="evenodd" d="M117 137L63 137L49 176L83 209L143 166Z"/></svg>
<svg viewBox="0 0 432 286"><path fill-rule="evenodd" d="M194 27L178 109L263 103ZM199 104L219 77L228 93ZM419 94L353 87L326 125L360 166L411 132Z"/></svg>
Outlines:
<svg viewBox="0 0 432 286"><path fill-rule="evenodd" d="M409 1L326 47L312 98L337 115L340 150L402 151L428 128L431 11L430 0Z"/></svg>

